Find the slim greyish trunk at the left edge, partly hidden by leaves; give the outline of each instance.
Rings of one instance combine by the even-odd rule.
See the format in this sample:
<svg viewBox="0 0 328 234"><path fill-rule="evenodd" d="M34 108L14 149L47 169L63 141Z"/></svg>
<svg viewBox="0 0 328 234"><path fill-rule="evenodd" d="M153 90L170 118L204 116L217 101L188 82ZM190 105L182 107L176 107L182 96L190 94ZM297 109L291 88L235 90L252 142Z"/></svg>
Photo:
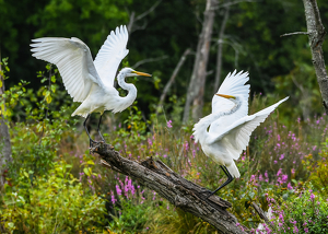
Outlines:
<svg viewBox="0 0 328 234"><path fill-rule="evenodd" d="M1 51L0 51L0 61L1 61ZM1 63L0 63L0 71L2 71ZM0 98L4 92L4 80L0 74ZM1 108L0 108L1 109ZM8 168L8 163L12 162L11 156L11 143L10 143L10 134L8 129L8 121L4 119L2 112L5 112L5 107L1 109L0 115L0 187L4 184L4 171Z"/></svg>

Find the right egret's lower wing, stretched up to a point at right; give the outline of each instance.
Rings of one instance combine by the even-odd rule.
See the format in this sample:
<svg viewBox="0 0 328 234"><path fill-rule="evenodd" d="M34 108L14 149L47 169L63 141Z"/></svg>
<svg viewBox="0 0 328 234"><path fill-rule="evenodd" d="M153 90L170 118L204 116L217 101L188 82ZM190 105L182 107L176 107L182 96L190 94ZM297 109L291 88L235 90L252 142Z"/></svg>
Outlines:
<svg viewBox="0 0 328 234"><path fill-rule="evenodd" d="M250 116L245 116L239 120L235 121L233 125L226 128L225 132L213 138L209 143L214 144L219 143L224 145L234 160L239 159L243 150L246 150L248 145L249 138L251 132L266 120L266 118L272 113L281 103L286 101L289 97L285 97L278 103L254 114Z"/></svg>

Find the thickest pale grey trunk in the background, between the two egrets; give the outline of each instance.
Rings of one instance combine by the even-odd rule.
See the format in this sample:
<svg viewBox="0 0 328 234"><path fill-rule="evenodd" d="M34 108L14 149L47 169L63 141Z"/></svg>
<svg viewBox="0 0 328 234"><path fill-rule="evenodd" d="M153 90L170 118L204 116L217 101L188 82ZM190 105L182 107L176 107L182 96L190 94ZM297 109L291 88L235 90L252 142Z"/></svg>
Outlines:
<svg viewBox="0 0 328 234"><path fill-rule="evenodd" d="M189 120L190 104L192 103L192 119L196 121L202 115L203 92L207 77L207 65L214 22L214 0L207 0L204 21L199 35L192 74L187 92L184 110L184 122Z"/></svg>

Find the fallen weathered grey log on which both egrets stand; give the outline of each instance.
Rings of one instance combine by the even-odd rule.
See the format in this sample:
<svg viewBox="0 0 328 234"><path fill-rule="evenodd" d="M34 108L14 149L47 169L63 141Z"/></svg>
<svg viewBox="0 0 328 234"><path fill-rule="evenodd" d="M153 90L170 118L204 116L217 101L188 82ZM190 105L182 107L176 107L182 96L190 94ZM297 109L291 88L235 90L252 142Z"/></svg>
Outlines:
<svg viewBox="0 0 328 234"><path fill-rule="evenodd" d="M98 153L101 162L124 175L137 179L140 184L156 191L174 206L209 222L220 233L246 233L236 225L236 218L226 211L231 203L218 196L207 199L209 190L174 173L160 160L149 157L142 162L125 159L109 144L98 143L92 148Z"/></svg>

